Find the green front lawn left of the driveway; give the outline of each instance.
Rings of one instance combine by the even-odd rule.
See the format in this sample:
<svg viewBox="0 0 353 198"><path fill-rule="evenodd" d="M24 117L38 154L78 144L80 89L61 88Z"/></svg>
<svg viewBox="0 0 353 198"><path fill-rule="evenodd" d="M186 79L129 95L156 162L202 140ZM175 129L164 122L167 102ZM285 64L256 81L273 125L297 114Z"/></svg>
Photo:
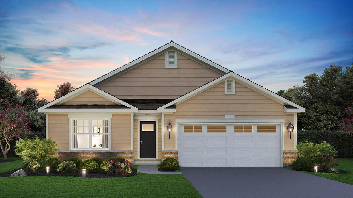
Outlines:
<svg viewBox="0 0 353 198"><path fill-rule="evenodd" d="M20 161L0 163L7 171L20 166ZM137 167L136 167L137 168ZM200 193L182 174L137 173L133 177L22 177L0 178L1 195L21 197L199 197Z"/></svg>

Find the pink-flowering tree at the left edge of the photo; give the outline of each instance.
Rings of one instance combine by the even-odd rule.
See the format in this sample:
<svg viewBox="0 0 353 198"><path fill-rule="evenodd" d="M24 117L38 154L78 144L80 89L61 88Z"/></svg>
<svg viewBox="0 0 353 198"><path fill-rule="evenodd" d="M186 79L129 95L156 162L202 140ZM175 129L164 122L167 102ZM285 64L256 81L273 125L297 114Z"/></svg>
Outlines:
<svg viewBox="0 0 353 198"><path fill-rule="evenodd" d="M11 140L31 135L28 124L28 116L23 107L0 106L0 146L4 160L7 160L6 153L10 151Z"/></svg>

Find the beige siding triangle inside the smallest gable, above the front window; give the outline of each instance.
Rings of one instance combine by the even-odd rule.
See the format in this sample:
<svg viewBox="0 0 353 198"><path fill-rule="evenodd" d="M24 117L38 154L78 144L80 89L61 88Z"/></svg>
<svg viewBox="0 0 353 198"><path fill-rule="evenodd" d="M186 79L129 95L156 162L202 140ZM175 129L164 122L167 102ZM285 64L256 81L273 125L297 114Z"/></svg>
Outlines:
<svg viewBox="0 0 353 198"><path fill-rule="evenodd" d="M86 91L62 104L115 104L92 91Z"/></svg>

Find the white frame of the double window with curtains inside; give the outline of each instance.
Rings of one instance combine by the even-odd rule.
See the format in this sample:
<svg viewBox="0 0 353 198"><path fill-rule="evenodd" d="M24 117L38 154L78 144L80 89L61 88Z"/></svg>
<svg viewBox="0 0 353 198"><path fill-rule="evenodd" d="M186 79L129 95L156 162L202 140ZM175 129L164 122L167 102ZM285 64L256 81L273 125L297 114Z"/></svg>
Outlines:
<svg viewBox="0 0 353 198"><path fill-rule="evenodd" d="M89 148L73 148L73 120L88 120ZM108 120L108 148L94 148L92 146L92 120ZM112 149L112 117L109 116L73 116L69 118L69 148L70 150L111 150Z"/></svg>

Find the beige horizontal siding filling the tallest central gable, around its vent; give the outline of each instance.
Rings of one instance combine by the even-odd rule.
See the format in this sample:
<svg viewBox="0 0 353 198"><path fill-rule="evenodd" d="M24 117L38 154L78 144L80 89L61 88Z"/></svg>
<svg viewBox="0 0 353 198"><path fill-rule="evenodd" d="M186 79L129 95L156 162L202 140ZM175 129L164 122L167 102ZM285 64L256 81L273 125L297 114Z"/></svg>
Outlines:
<svg viewBox="0 0 353 198"><path fill-rule="evenodd" d="M162 54L97 88L118 98L174 99L220 76L180 54L178 68L165 68L165 54Z"/></svg>

